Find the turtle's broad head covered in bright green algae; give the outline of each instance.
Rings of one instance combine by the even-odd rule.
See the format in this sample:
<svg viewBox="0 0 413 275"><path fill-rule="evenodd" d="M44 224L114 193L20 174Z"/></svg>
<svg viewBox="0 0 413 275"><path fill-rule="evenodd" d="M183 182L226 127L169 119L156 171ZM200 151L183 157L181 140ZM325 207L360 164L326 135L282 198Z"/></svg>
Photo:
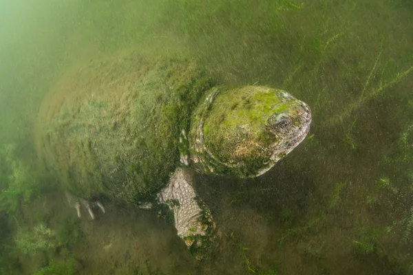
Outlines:
<svg viewBox="0 0 413 275"><path fill-rule="evenodd" d="M256 177L303 141L310 123L310 107L286 91L215 87L195 110L191 162L203 173Z"/></svg>

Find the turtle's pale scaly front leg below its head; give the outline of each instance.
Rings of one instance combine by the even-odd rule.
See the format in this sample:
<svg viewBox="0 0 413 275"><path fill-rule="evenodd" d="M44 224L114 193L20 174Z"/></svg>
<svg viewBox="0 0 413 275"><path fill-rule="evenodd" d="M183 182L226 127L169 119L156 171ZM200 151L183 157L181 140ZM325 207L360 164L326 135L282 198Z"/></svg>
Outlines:
<svg viewBox="0 0 413 275"><path fill-rule="evenodd" d="M178 236L195 257L201 259L202 252L215 236L215 223L208 206L195 194L191 172L178 168L168 185L158 193L158 200L169 206Z"/></svg>

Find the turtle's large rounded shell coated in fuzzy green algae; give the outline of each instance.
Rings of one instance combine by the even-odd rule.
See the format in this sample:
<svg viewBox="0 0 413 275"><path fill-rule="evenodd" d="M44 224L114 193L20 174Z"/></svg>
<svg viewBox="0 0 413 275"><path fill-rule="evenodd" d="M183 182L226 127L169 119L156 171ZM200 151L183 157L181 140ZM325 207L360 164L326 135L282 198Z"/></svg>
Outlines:
<svg viewBox="0 0 413 275"><path fill-rule="evenodd" d="M41 159L82 197L134 201L165 186L178 137L211 79L185 58L136 52L66 74L43 102Z"/></svg>

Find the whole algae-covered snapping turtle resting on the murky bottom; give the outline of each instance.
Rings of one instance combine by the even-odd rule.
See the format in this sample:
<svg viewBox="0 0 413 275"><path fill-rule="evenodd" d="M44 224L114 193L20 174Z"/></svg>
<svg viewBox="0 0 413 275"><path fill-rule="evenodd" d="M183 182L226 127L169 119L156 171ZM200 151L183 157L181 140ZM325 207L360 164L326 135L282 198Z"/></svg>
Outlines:
<svg viewBox="0 0 413 275"><path fill-rule="evenodd" d="M310 122L308 105L286 91L215 86L189 58L131 52L66 74L43 102L36 137L70 197L166 203L179 236L199 250L215 225L184 167L262 175Z"/></svg>

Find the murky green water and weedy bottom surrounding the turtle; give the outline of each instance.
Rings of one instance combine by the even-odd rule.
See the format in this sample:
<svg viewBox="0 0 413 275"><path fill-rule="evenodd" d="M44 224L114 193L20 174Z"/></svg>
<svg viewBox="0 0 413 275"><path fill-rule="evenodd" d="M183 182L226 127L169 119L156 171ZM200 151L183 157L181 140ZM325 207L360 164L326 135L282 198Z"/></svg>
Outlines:
<svg viewBox="0 0 413 275"><path fill-rule="evenodd" d="M0 3L1 274L413 274L411 1L25 2ZM200 263L134 206L79 220L36 170L57 80L139 47L182 48L218 83L313 109L306 140L262 177L198 176L221 235Z"/></svg>

